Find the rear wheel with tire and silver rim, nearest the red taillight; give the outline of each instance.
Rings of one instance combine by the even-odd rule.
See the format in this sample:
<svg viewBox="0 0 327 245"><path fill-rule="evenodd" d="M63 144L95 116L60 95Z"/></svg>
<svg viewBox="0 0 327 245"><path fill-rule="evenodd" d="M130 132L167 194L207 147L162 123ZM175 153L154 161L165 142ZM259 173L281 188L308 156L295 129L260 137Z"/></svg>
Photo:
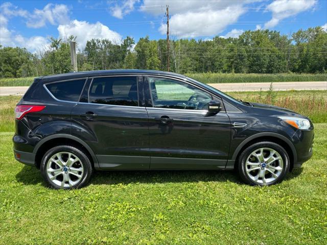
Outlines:
<svg viewBox="0 0 327 245"><path fill-rule="evenodd" d="M71 145L61 145L44 154L40 170L50 187L77 189L88 183L92 175L92 164L80 149Z"/></svg>

